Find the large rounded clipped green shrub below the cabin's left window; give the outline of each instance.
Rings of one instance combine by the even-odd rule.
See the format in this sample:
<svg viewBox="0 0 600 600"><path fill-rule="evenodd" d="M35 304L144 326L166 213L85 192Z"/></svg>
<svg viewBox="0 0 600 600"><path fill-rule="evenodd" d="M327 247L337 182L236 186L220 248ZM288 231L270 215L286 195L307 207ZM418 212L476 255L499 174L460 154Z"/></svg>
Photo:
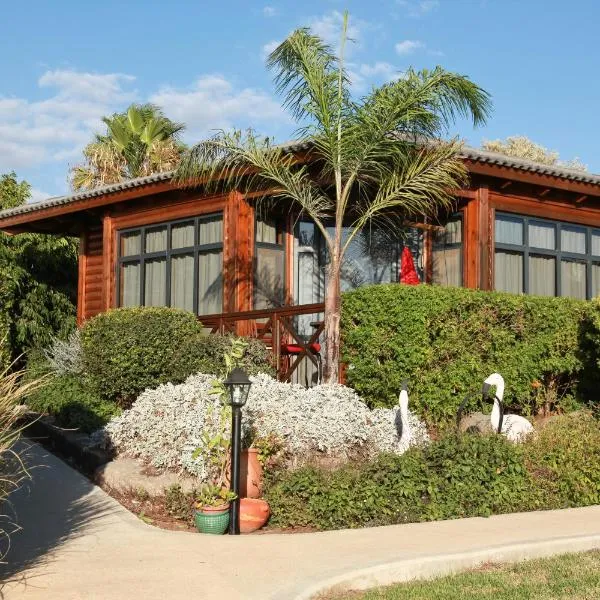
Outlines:
<svg viewBox="0 0 600 600"><path fill-rule="evenodd" d="M201 332L196 317L182 310L111 310L81 330L83 367L102 398L128 406L146 388L170 380L182 343Z"/></svg>

